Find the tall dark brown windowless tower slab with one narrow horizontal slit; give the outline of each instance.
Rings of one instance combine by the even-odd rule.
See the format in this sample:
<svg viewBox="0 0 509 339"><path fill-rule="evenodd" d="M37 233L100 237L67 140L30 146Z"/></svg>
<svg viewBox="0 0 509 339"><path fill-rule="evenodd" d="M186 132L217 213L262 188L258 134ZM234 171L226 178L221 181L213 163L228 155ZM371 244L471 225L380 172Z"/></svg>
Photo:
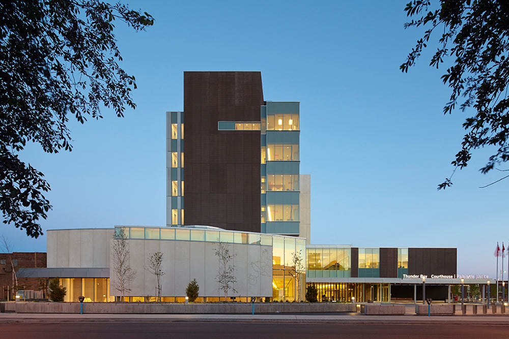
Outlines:
<svg viewBox="0 0 509 339"><path fill-rule="evenodd" d="M260 72L184 72L184 225L260 232ZM188 155L186 157L186 155Z"/></svg>

